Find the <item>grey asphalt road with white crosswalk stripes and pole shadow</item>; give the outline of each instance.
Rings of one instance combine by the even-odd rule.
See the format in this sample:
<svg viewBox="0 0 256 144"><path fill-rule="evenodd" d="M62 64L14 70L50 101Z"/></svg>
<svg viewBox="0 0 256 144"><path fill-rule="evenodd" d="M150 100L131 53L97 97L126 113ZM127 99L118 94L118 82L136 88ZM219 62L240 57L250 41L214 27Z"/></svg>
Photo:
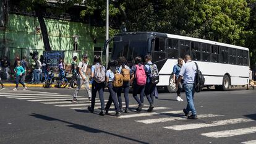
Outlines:
<svg viewBox="0 0 256 144"><path fill-rule="evenodd" d="M184 93L184 101L176 101L174 93L160 91L151 113L135 112L130 95L130 113L114 117L99 116L100 109L88 112L85 90L79 93L80 103L72 103L73 92L0 91L0 143L256 143L256 90L195 93L197 120L183 116ZM106 91L105 100L108 96ZM96 106L100 108L99 100Z"/></svg>

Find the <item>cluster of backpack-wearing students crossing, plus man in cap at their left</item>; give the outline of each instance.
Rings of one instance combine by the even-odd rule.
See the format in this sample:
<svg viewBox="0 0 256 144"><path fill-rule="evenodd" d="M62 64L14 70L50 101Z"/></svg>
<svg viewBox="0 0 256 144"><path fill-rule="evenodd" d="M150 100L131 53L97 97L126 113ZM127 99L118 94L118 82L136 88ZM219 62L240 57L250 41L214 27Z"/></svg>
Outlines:
<svg viewBox="0 0 256 144"><path fill-rule="evenodd" d="M73 59L75 61L75 59ZM142 111L144 95L147 97L150 106L148 112L152 112L154 108L154 93L156 89L156 83L159 81L158 69L155 64L151 62L151 56L148 54L145 56L145 65L142 63L142 57L137 56L134 59L134 66L130 69L127 64L126 58L121 56L117 60L109 61L108 68L101 64L101 57L95 56L92 66L92 92L90 90L88 78L85 73L88 66L88 56L83 55L83 59L79 62L77 69L77 88L74 91L73 102L77 102L77 95L81 86L84 84L91 106L88 106L88 111L92 112L95 109L95 97L96 93L100 97L101 111L100 115L104 116L108 114L109 108L114 103L116 114L114 116L120 116L121 112L129 113L129 87L132 85L134 88L133 97L139 104L136 109L137 112ZM74 71L72 71L73 73ZM108 103L105 106L105 100L103 91L105 87L108 87L109 98ZM122 107L121 92L124 90L124 98L126 101L126 108ZM140 96L138 96L139 94Z"/></svg>

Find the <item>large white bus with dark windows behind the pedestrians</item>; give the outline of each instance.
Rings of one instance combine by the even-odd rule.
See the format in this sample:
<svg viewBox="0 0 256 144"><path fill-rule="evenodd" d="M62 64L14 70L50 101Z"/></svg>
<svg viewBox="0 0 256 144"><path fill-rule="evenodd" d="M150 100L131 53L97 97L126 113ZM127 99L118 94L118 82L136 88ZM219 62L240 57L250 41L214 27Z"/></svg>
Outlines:
<svg viewBox="0 0 256 144"><path fill-rule="evenodd" d="M160 74L157 86L169 92L175 91L170 86L173 66L186 54L197 62L206 87L228 90L249 83L249 49L241 46L158 32L119 33L105 42L105 49L107 44L111 59L124 56L130 66L135 56L151 54Z"/></svg>

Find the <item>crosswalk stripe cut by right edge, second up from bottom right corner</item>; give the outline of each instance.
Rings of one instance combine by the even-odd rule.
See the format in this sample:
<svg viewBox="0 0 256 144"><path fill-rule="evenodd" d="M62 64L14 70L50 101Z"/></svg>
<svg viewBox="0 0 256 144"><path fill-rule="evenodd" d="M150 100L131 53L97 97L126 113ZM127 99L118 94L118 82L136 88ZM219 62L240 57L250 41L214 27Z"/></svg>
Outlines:
<svg viewBox="0 0 256 144"><path fill-rule="evenodd" d="M201 135L206 137L213 137L213 138L224 138L224 137L233 137L236 135L245 135L249 133L255 133L256 127L247 127L243 129L233 129L233 130L223 130L218 132L208 132L202 133Z"/></svg>

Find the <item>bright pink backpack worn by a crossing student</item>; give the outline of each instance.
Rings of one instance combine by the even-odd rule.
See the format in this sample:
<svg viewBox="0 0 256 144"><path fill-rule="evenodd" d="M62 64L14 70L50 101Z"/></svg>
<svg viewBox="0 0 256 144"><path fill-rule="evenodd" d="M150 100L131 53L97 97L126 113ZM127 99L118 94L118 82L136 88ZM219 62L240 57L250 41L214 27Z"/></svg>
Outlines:
<svg viewBox="0 0 256 144"><path fill-rule="evenodd" d="M144 70L144 66L139 66L139 65L135 65L136 67L136 74L135 74L135 78L136 78L136 81L137 81L137 85L145 85L146 82L147 82L147 75L145 73L145 70Z"/></svg>

